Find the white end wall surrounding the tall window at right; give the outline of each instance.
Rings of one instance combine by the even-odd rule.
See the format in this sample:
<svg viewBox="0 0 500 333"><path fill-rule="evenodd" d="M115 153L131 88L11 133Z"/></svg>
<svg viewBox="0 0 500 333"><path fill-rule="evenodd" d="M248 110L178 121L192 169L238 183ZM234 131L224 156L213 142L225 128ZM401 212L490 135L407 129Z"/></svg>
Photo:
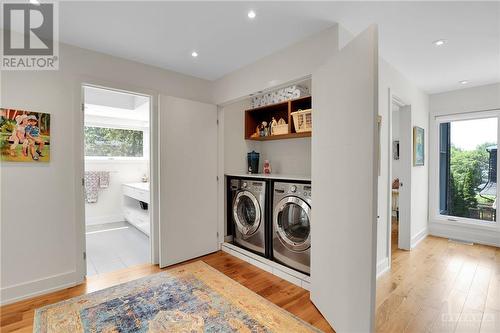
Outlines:
<svg viewBox="0 0 500 333"><path fill-rule="evenodd" d="M485 86L466 88L433 94L430 96L430 125L431 129L436 126L435 117L469 113L475 111L500 110L500 83ZM430 133L430 181L429 184L437 184L438 179L435 170L439 167L439 161L434 148L438 145L437 130ZM429 233L436 236L462 239L474 243L482 243L500 246L500 224L494 227L481 227L444 221L436 219L438 193L435 186L431 186L429 195Z"/></svg>

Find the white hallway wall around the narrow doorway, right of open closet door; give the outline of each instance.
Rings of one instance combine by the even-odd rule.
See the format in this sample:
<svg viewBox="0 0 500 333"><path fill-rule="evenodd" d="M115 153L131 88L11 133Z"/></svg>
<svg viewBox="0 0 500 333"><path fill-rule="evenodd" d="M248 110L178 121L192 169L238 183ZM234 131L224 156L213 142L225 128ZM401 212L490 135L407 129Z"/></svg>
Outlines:
<svg viewBox="0 0 500 333"><path fill-rule="evenodd" d="M392 65L380 59L379 63L379 114L382 116L381 128L381 160L382 168L378 182L378 237L377 237L377 271L380 274L388 268L388 226L390 223L389 205L389 164L392 160L392 142L389 138L389 89L406 104L411 105L412 126L425 130L425 165L412 167L411 171L411 243L414 247L427 234L427 202L428 202L428 133L429 102L428 96L406 79Z"/></svg>

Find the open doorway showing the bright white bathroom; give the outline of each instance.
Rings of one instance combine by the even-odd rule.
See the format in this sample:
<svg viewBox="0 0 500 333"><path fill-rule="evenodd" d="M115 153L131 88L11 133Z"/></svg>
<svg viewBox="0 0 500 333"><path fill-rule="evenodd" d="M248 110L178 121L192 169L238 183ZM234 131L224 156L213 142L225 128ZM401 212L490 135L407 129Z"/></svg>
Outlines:
<svg viewBox="0 0 500 333"><path fill-rule="evenodd" d="M87 276L151 262L151 98L83 86Z"/></svg>

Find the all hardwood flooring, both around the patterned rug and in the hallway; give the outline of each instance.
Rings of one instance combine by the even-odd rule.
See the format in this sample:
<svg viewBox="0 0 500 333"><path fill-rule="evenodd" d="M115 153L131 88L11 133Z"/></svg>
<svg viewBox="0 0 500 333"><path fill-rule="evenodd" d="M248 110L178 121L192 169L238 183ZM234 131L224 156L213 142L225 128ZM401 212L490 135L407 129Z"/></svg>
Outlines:
<svg viewBox="0 0 500 333"><path fill-rule="evenodd" d="M500 249L429 236L412 251L393 246L392 269L377 281L377 332L500 332ZM238 258L199 258L325 332L309 293ZM0 308L1 332L32 332L34 309L161 271L141 265Z"/></svg>

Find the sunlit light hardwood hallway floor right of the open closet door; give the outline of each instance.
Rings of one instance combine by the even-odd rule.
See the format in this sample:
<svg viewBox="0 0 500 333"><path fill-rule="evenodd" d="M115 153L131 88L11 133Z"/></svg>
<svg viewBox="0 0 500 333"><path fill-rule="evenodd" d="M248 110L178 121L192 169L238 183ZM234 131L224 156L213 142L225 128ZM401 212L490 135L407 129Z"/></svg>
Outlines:
<svg viewBox="0 0 500 333"><path fill-rule="evenodd" d="M412 251L393 242L376 306L377 332L500 332L500 249L432 236Z"/></svg>

